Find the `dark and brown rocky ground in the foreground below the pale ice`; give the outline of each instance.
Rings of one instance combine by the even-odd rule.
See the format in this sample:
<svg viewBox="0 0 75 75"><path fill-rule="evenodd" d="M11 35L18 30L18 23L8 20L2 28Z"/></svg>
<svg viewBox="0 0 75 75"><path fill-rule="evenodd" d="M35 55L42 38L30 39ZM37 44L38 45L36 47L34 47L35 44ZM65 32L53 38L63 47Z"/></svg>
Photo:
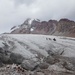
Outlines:
<svg viewBox="0 0 75 75"><path fill-rule="evenodd" d="M25 59L0 48L0 75L75 75L75 58L51 52L37 60Z"/></svg>

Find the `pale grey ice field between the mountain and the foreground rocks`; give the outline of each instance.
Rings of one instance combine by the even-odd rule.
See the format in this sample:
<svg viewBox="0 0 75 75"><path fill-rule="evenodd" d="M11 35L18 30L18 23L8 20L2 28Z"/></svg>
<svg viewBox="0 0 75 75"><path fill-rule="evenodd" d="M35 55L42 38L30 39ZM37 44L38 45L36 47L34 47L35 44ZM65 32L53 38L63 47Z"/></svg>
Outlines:
<svg viewBox="0 0 75 75"><path fill-rule="evenodd" d="M56 39L54 41L53 39ZM21 54L26 59L36 58L39 54L48 56L48 51L66 57L75 57L75 38L34 35L34 34L2 34L0 47L8 45L8 50Z"/></svg>

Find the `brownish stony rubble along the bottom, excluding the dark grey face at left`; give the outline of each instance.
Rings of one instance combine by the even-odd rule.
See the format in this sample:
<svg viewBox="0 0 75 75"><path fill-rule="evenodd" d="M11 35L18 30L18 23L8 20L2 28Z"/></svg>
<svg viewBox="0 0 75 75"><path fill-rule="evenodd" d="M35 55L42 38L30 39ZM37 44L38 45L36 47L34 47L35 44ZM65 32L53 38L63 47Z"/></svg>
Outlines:
<svg viewBox="0 0 75 75"><path fill-rule="evenodd" d="M0 68L0 75L75 75L75 67L65 57L48 56L37 65L28 60L24 60L20 65L4 64Z"/></svg>

